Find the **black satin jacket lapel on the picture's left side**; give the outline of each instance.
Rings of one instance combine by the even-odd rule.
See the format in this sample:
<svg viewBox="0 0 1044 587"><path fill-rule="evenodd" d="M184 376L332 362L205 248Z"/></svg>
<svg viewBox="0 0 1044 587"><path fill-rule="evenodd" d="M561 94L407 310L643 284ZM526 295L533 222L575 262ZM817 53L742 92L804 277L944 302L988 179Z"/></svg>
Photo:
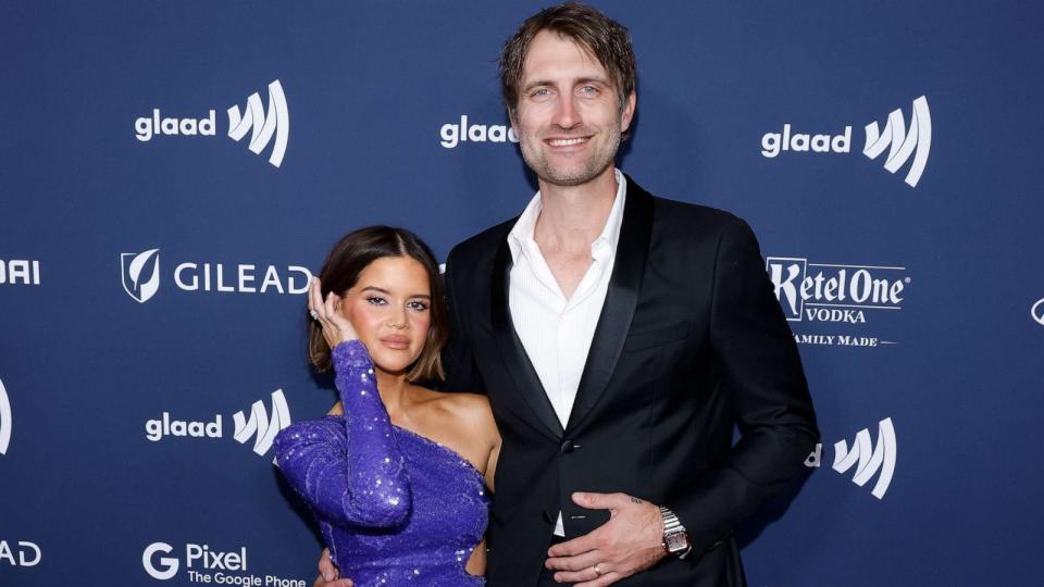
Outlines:
<svg viewBox="0 0 1044 587"><path fill-rule="evenodd" d="M508 370L509 379L515 384L518 395L525 399L544 427L552 438L562 437L562 423L555 413L551 400L548 399L544 385L540 383L525 347L519 339L511 322L511 309L508 304L509 279L511 270L511 249L507 238L500 239L500 248L493 263L493 275L489 287L489 312L493 335L500 351L500 358Z"/></svg>

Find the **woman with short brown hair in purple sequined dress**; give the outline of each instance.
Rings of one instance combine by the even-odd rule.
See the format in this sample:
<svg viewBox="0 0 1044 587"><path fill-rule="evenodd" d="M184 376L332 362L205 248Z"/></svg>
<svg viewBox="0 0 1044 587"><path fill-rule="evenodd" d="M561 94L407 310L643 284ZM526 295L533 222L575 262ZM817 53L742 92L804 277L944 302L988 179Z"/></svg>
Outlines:
<svg viewBox="0 0 1044 587"><path fill-rule="evenodd" d="M447 338L438 267L401 228L344 237L309 292L309 352L336 372L340 409L275 439L276 462L312 508L356 586L483 585L500 436L484 396L443 394ZM343 415L338 415L341 412Z"/></svg>

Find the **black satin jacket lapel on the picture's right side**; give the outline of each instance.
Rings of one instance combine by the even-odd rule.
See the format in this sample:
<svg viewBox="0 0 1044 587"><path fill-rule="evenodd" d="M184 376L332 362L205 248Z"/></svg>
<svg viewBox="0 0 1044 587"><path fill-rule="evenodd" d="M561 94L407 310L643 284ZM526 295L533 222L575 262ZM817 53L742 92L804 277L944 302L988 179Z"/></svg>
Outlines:
<svg viewBox="0 0 1044 587"><path fill-rule="evenodd" d="M568 430L575 429L591 412L605 394L609 378L617 369L617 361L620 359L638 302L651 232L652 197L627 177L627 200L623 209L612 277L609 279L606 302L595 327L591 350L587 352L576 399L566 425Z"/></svg>

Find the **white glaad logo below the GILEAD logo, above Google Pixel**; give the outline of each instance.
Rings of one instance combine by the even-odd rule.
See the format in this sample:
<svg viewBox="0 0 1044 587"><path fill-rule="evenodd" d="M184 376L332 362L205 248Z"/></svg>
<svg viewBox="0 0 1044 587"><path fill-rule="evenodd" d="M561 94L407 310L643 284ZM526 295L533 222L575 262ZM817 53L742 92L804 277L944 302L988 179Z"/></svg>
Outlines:
<svg viewBox="0 0 1044 587"><path fill-rule="evenodd" d="M272 392L272 417L260 400L253 402L248 420L240 410L232 416L236 429L233 433L240 445L257 436L253 451L264 455L272 448L275 435L290 425L290 409L282 389ZM210 421L176 420L170 412L163 412L160 417L145 423L145 437L153 442L173 436L182 438L224 438L221 414L214 414Z"/></svg>

